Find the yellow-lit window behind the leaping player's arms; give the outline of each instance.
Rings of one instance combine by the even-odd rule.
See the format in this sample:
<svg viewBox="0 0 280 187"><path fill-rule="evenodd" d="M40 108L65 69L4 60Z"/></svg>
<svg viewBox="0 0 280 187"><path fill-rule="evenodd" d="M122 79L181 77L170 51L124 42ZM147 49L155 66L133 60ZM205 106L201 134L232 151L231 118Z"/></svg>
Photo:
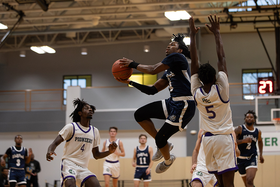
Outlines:
<svg viewBox="0 0 280 187"><path fill-rule="evenodd" d="M131 81L144 85L153 85L157 81L157 75L150 75L145 73L134 73L129 78ZM128 84L128 86L132 87Z"/></svg>

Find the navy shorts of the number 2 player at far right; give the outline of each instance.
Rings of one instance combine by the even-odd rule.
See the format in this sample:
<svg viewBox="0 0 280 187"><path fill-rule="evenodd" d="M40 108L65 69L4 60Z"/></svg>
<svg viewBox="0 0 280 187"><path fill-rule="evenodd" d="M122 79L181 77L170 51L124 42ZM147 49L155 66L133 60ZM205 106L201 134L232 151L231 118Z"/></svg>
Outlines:
<svg viewBox="0 0 280 187"><path fill-rule="evenodd" d="M241 158L240 158L241 157ZM246 170L248 168L258 168L258 155L246 157L246 156L238 156L237 157L237 166L238 171L241 177L246 176Z"/></svg>

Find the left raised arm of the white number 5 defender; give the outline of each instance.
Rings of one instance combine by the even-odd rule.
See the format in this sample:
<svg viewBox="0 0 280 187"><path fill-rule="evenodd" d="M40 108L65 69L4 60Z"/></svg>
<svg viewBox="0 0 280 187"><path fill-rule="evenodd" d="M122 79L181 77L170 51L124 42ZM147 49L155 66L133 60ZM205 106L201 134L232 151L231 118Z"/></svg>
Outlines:
<svg viewBox="0 0 280 187"><path fill-rule="evenodd" d="M197 49L196 49L196 41L195 41L195 34L198 32L200 28L196 28L194 25L194 18L189 18L189 38L190 38L190 45L189 51L191 56L191 75L197 74L198 72L198 56L197 56Z"/></svg>

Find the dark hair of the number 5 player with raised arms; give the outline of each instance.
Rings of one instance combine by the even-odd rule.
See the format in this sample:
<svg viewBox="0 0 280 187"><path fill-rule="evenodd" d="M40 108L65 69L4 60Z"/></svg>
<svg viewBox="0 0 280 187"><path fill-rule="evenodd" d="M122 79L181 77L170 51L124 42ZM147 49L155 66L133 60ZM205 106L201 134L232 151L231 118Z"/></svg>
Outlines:
<svg viewBox="0 0 280 187"><path fill-rule="evenodd" d="M215 75L216 70L209 64L209 61L198 68L198 78L203 84L211 83Z"/></svg>

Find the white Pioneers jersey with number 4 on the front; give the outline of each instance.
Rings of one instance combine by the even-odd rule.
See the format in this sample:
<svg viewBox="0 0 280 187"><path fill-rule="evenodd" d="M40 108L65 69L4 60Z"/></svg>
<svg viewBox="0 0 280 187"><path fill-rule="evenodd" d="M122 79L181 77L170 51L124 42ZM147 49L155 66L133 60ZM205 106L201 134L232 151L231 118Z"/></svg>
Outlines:
<svg viewBox="0 0 280 187"><path fill-rule="evenodd" d="M67 124L59 134L66 140L62 159L87 168L92 148L100 144L98 129L91 125L86 128L79 122L73 122Z"/></svg>

